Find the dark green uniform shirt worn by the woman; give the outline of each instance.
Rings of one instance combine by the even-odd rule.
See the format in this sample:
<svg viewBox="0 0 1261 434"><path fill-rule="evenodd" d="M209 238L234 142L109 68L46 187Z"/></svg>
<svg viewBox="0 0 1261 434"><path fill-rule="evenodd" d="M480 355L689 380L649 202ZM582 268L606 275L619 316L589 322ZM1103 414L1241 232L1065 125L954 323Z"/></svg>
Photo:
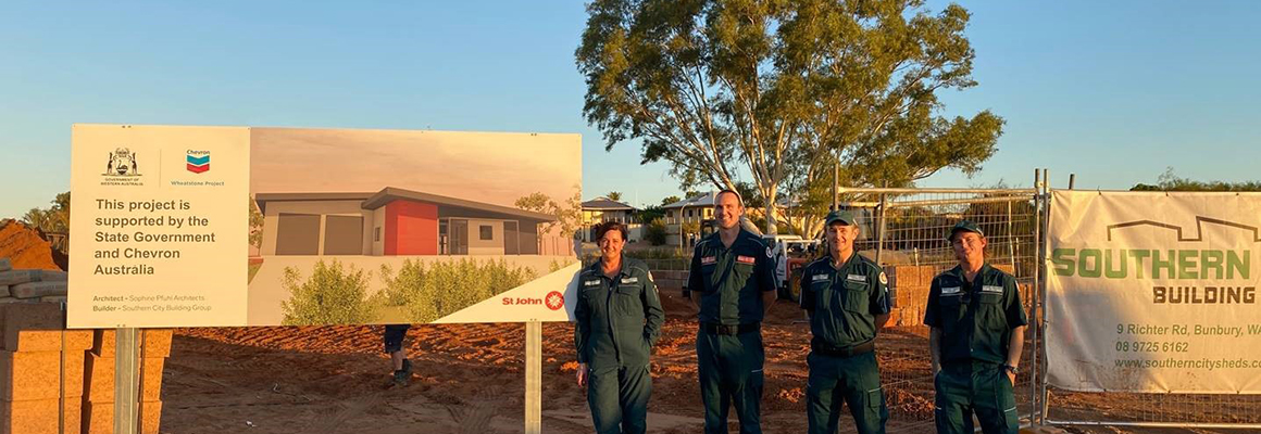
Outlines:
<svg viewBox="0 0 1261 434"><path fill-rule="evenodd" d="M578 275L578 361L591 369L648 365L666 318L657 284L648 267L634 258L622 257L622 270L613 278L601 267L596 262Z"/></svg>

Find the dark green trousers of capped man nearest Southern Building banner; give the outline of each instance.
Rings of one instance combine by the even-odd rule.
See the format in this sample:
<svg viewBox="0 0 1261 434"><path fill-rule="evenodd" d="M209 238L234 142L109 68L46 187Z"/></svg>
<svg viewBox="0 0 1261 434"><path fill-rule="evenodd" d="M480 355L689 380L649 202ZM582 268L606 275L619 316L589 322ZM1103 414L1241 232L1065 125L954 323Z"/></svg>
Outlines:
<svg viewBox="0 0 1261 434"><path fill-rule="evenodd" d="M1002 366L990 362L944 365L934 380L933 416L938 434L971 434L972 413L985 434L1016 434L1016 398Z"/></svg>

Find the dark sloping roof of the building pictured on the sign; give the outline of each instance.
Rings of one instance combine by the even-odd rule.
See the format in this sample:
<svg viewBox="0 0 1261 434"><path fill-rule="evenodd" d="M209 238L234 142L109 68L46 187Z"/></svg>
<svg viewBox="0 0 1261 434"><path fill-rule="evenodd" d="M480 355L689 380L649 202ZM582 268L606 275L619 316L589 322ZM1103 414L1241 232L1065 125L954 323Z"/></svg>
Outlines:
<svg viewBox="0 0 1261 434"><path fill-rule="evenodd" d="M427 192L404 190L396 187L385 187L377 192L265 192L255 195L255 200L259 203L259 210L266 213L269 201L322 201L322 200L359 200L362 204L359 208L366 210L375 210L377 208L385 206L386 204L395 201L397 199L407 199L422 203L430 203L444 206L464 208L478 211L496 213L503 215L511 215L522 219L540 220L540 221L554 221L556 216L550 214L526 211L522 209L516 209L511 206L501 206L492 204L483 204L472 200L439 196Z"/></svg>

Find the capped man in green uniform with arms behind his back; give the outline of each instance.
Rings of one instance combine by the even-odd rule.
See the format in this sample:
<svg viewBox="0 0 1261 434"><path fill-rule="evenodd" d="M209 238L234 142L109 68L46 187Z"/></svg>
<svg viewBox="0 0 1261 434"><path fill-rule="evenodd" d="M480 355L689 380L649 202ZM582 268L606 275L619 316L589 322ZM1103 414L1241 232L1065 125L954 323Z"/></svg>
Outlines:
<svg viewBox="0 0 1261 434"><path fill-rule="evenodd" d="M808 433L835 434L841 400L859 433L884 434L889 409L880 389L875 333L889 320L888 278L854 252L859 226L850 211L827 214L828 254L806 265L801 307L810 313Z"/></svg>

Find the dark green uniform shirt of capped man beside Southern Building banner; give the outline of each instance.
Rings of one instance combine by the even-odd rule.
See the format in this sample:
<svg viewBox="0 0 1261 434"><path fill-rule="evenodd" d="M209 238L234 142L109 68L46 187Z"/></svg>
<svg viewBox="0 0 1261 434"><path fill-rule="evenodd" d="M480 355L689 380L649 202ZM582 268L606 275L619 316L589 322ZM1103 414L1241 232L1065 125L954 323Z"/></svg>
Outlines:
<svg viewBox="0 0 1261 434"><path fill-rule="evenodd" d="M942 362L1005 364L1011 330L1029 323L1011 274L981 265L971 284L963 268L933 278L924 325L941 328Z"/></svg>

